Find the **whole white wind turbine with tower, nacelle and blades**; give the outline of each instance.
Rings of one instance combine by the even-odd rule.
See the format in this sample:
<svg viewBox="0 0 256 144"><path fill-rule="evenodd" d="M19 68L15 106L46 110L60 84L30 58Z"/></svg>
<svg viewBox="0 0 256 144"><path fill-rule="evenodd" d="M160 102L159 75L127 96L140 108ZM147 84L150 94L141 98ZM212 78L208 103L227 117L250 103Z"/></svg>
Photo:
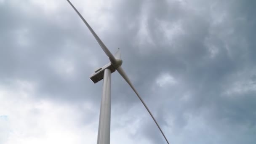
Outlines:
<svg viewBox="0 0 256 144"><path fill-rule="evenodd" d="M97 69L90 77L90 79L93 81L93 83L97 83L100 80L103 79L103 92L102 92L102 98L101 98L101 108L100 108L100 115L99 115L99 130L98 130L98 140L97 144L109 144L110 143L110 112L111 112L111 73L119 72L119 74L123 77L123 79L130 85L130 87L133 89L133 91L136 93L138 98L141 100L144 107L149 112L149 115L152 117L152 119L155 121L155 124L159 128L160 132L163 134L166 142L169 144L168 140L165 137L165 134L163 133L162 129L158 125L157 121L155 120L155 117L150 112L149 108L145 104L145 102L141 99L141 96L139 96L139 93L136 91L134 86L132 85L131 81L129 80L128 76L125 74L123 68L121 67L123 61L121 59L121 52L118 48L118 51L115 53L115 56L109 51L109 49L104 45L104 43L101 41L101 39L96 35L96 33L93 31L91 26L85 21L83 16L77 11L75 6L67 0L67 2L72 6L72 8L76 11L76 13L80 16L80 18L83 20L85 25L88 27L88 29L91 31L99 45L101 46L102 50L106 53L106 55L109 57L110 62L106 64L105 66Z"/></svg>

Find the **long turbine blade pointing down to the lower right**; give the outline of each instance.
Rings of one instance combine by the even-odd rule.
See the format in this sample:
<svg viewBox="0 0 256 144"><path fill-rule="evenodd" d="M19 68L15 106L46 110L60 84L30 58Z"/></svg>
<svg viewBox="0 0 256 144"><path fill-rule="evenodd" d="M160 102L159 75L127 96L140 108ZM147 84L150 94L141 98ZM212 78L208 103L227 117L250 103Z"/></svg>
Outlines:
<svg viewBox="0 0 256 144"><path fill-rule="evenodd" d="M138 96L138 98L141 100L142 104L144 105L144 107L147 109L147 111L149 112L149 115L152 117L152 119L155 121L155 124L157 125L157 127L159 128L159 130L161 131L161 133L163 134L163 137L165 138L166 142L169 144L168 140L165 137L165 134L163 133L162 129L160 128L160 126L158 125L157 121L155 120L155 117L152 115L152 113L150 112L149 108L147 107L147 105L145 104L145 102L141 99L141 96L139 96L139 93L136 91L136 89L134 88L134 86L132 85L131 81L129 80L129 78L127 77L127 75L125 74L123 68L120 66L117 68L117 72L120 73L120 75L125 79L125 81L128 83L128 85L130 85L130 87L133 89L133 91L136 93L136 95Z"/></svg>

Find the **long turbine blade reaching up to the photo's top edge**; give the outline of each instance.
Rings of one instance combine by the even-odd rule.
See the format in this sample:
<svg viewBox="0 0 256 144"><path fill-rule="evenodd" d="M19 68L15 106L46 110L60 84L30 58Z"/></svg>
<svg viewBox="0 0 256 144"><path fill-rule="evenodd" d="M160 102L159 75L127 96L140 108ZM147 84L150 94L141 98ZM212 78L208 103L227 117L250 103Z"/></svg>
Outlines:
<svg viewBox="0 0 256 144"><path fill-rule="evenodd" d="M112 53L109 51L109 49L106 47L106 45L104 45L104 43L101 41L101 39L98 37L98 35L96 35L96 33L93 31L93 29L91 28L91 26L87 23L87 21L85 21L85 19L83 18L83 16L79 13L79 11L77 11L77 9L75 8L75 6L69 1L67 0L67 2L72 6L72 8L76 11L76 13L78 14L78 16L80 16L80 18L83 20L83 22L85 23L85 25L88 27L88 29L91 31L91 33L93 34L93 36L95 37L95 39L97 40L97 42L99 43L99 45L101 46L102 50L107 54L107 56L109 57L109 60L111 61L112 64L116 63L115 57L112 55Z"/></svg>

